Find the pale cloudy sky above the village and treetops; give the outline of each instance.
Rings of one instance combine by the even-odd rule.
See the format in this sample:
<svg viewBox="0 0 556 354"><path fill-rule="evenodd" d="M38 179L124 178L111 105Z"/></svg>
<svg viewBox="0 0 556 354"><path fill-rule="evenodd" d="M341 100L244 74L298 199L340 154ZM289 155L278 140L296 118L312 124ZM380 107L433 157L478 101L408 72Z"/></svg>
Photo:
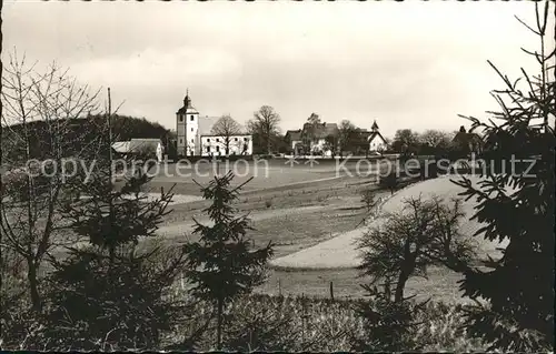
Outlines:
<svg viewBox="0 0 556 354"><path fill-rule="evenodd" d="M186 90L201 115L240 123L264 104L282 132L311 112L384 135L457 130L488 118L503 88L487 59L538 73L520 48L538 39L525 1L39 2L4 1L3 51L56 61L110 88L119 113L176 128ZM40 68L40 67L39 67Z"/></svg>

